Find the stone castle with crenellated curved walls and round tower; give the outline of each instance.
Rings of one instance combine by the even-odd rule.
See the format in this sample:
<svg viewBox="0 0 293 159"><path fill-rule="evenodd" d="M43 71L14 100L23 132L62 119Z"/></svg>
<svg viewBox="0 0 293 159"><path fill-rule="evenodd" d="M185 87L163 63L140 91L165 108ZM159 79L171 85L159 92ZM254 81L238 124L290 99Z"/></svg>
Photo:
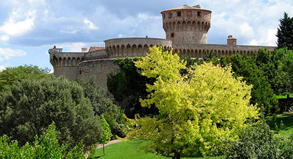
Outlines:
<svg viewBox="0 0 293 159"><path fill-rule="evenodd" d="M260 48L274 50L273 46L239 46L231 35L227 44L207 44L207 32L211 27L211 11L200 6L181 6L161 12L166 39L130 37L105 40L105 47L82 48L80 53L64 53L62 48L51 48L50 64L54 75L65 75L70 80L88 80L95 76L97 83L106 90L106 79L110 73L119 71L113 64L117 57L141 57L147 55L149 47L162 46L175 53L191 58L202 58L207 51L220 57L233 54L252 55Z"/></svg>

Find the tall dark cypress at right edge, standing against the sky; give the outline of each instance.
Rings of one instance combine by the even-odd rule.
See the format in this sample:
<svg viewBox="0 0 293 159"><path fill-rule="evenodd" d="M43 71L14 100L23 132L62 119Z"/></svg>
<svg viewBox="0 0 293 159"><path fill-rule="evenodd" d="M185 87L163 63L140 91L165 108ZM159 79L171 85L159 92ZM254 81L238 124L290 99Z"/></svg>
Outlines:
<svg viewBox="0 0 293 159"><path fill-rule="evenodd" d="M287 13L284 12L284 17L280 19L278 27L276 33L278 48L293 50L293 18L288 17Z"/></svg>

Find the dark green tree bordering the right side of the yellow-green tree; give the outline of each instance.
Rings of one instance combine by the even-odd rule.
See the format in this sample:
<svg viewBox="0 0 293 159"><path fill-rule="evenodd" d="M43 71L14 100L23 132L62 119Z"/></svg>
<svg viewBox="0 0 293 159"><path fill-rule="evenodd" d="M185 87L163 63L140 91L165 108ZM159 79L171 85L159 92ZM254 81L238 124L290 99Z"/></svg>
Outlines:
<svg viewBox="0 0 293 159"><path fill-rule="evenodd" d="M265 115L278 112L278 101L264 75L263 71L256 66L256 58L247 55L231 56L232 70L235 77L243 77L247 84L252 84L252 104L257 104Z"/></svg>

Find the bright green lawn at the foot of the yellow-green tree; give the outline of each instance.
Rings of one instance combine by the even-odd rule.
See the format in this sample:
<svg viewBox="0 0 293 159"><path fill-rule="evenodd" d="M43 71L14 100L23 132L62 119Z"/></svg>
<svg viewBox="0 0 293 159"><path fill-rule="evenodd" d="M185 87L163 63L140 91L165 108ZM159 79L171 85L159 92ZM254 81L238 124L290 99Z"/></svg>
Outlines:
<svg viewBox="0 0 293 159"><path fill-rule="evenodd" d="M103 156L103 149L97 149L95 152L95 158L100 159L163 159L171 158L166 156L158 156L153 153L145 153L140 149L140 146L146 144L146 142L141 142L140 140L119 142L116 144L111 144L105 147L105 156ZM192 157L191 157L192 158ZM191 159L188 158L188 159ZM220 157L213 157L220 158ZM185 158L187 159L187 158ZM200 158L196 158L200 159Z"/></svg>

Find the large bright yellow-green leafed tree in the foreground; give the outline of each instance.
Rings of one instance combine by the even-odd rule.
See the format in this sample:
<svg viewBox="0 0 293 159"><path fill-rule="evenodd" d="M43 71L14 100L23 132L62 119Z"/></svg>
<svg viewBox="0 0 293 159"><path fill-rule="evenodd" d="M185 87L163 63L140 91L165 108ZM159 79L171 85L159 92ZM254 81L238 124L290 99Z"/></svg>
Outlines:
<svg viewBox="0 0 293 159"><path fill-rule="evenodd" d="M135 62L142 75L155 77L147 85L151 94L142 106L155 104L160 114L132 120L137 125L129 138L147 140L147 151L180 158L182 154L209 155L220 138L237 138L247 118L257 118L249 104L252 86L232 77L231 67L212 64L191 66L180 75L185 63L178 55L150 48L150 54Z"/></svg>

